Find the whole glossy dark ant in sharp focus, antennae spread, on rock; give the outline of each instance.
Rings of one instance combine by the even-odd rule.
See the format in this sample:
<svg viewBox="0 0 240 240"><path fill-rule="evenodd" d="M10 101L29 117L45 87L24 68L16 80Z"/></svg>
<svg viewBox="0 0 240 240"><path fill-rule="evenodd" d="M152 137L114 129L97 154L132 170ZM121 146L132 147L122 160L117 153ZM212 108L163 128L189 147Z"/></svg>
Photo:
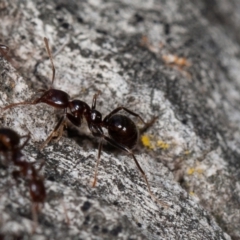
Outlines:
<svg viewBox="0 0 240 240"><path fill-rule="evenodd" d="M44 38L45 46L51 61L52 65L52 86L55 79L55 67L52 59L52 54L49 48L48 39ZM70 96L61 90L53 89L52 87L49 90L41 90L43 92L42 96L33 100L32 102L19 102L19 103L13 103L3 108L3 110L6 110L8 108L16 107L19 105L35 105L38 103L46 103L52 107L63 109L64 115L60 118L59 122L55 126L52 133L49 135L49 137L44 141L44 143L41 145L40 148L43 148L46 144L49 143L49 141L53 137L57 137L57 140L59 140L62 136L63 127L66 124L67 119L75 126L80 127L82 123L82 118L84 117L88 123L88 128L91 131L92 135L94 137L99 137L101 139L106 140L108 143L113 145L114 147L128 153L133 158L134 162L136 163L139 171L141 172L147 187L149 194L151 197L160 202L163 205L166 205L159 201L157 197L152 193L150 189L150 185L148 183L147 177L143 169L141 168L140 164L138 163L136 157L134 156L132 149L135 147L135 145L138 142L138 129L136 127L136 124L127 116L117 114L119 111L124 110L127 113L138 117L145 125L151 125L156 120L156 118L151 121L150 124L145 123L144 120L133 111L125 108L125 107L118 107L114 109L111 113L109 113L103 120L102 120L102 114L97 111L96 108L96 99L99 93L95 94L92 101L92 107L78 99L70 100ZM68 113L68 109L70 110L70 113ZM103 132L102 128L108 129L108 136L106 136ZM102 151L102 141L99 143L98 147L98 158L95 168L95 174L94 174L94 181L93 181L93 187L96 186L97 182L97 172L98 172L98 165L100 162L100 156Z"/></svg>

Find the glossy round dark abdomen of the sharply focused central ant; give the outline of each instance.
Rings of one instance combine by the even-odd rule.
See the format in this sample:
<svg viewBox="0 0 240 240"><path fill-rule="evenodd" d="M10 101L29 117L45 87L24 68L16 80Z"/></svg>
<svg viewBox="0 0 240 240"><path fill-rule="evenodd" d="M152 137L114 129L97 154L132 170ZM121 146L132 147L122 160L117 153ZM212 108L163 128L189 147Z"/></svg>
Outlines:
<svg viewBox="0 0 240 240"><path fill-rule="evenodd" d="M138 128L127 116L115 114L108 119L107 124L109 136L129 149L133 149L138 142Z"/></svg>

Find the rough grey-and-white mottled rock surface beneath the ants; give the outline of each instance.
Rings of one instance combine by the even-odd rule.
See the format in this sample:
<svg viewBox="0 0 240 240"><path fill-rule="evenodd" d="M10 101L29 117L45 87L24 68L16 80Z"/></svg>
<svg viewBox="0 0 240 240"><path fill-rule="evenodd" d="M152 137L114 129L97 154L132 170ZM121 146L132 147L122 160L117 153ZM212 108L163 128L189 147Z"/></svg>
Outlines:
<svg viewBox="0 0 240 240"><path fill-rule="evenodd" d="M206 11L218 3L212 15ZM231 19L226 9L233 10ZM31 133L23 151L29 161L45 160L47 199L32 234L27 185L17 185L13 166L1 164L2 236L240 239L240 50L239 31L232 32L239 30L239 9L233 0L2 0L0 42L11 51L0 58L0 105L50 87L46 36L56 88L89 105L100 90L103 115L124 105L146 121L159 116L145 133L150 149L140 145L135 153L153 191L169 204L153 202L134 162L109 146L92 188L98 142L86 124L69 125L58 143L40 152L60 112L45 104L23 106L2 111L0 124Z"/></svg>

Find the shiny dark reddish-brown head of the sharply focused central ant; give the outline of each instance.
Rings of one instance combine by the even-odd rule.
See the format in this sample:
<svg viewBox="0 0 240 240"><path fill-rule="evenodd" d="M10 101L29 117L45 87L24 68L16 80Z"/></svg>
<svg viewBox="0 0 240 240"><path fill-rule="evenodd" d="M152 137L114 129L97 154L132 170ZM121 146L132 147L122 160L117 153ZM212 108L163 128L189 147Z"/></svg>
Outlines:
<svg viewBox="0 0 240 240"><path fill-rule="evenodd" d="M46 103L55 108L65 109L68 107L70 96L58 89L47 90L40 98L35 101L37 103Z"/></svg>

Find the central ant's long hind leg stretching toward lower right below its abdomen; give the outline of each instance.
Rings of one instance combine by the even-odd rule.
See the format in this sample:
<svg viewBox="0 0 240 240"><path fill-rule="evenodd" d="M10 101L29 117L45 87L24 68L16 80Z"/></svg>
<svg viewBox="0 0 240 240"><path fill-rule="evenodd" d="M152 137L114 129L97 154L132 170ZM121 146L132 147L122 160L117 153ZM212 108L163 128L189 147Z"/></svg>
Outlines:
<svg viewBox="0 0 240 240"><path fill-rule="evenodd" d="M116 148L118 148L118 149L120 149L120 150L122 150L122 151L124 151L124 152L126 152L126 153L128 153L129 155L132 156L135 164L137 165L138 170L141 172L141 174L142 174L142 176L143 176L143 179L144 179L145 183L147 184L148 192L149 192L151 198L153 199L153 201L156 201L157 203L159 203L160 205L162 205L162 206L164 206L164 207L168 207L169 205L168 205L167 203L165 203L165 202L163 202L163 201L160 201L160 200L157 198L157 196L155 196L155 194L152 192L152 190L151 190L151 188L150 188L150 184L149 184L149 182L148 182L148 180L147 180L147 176L146 176L145 172L143 171L142 167L140 166L139 162L137 161L136 157L134 156L133 152L132 152L129 148L123 146L122 144L117 143L116 141L114 141L113 139L111 139L111 138L109 138L109 137L107 137L107 136L105 136L105 135L103 135L102 137L103 137L108 143L110 143L111 145L113 145L114 147L116 147Z"/></svg>

